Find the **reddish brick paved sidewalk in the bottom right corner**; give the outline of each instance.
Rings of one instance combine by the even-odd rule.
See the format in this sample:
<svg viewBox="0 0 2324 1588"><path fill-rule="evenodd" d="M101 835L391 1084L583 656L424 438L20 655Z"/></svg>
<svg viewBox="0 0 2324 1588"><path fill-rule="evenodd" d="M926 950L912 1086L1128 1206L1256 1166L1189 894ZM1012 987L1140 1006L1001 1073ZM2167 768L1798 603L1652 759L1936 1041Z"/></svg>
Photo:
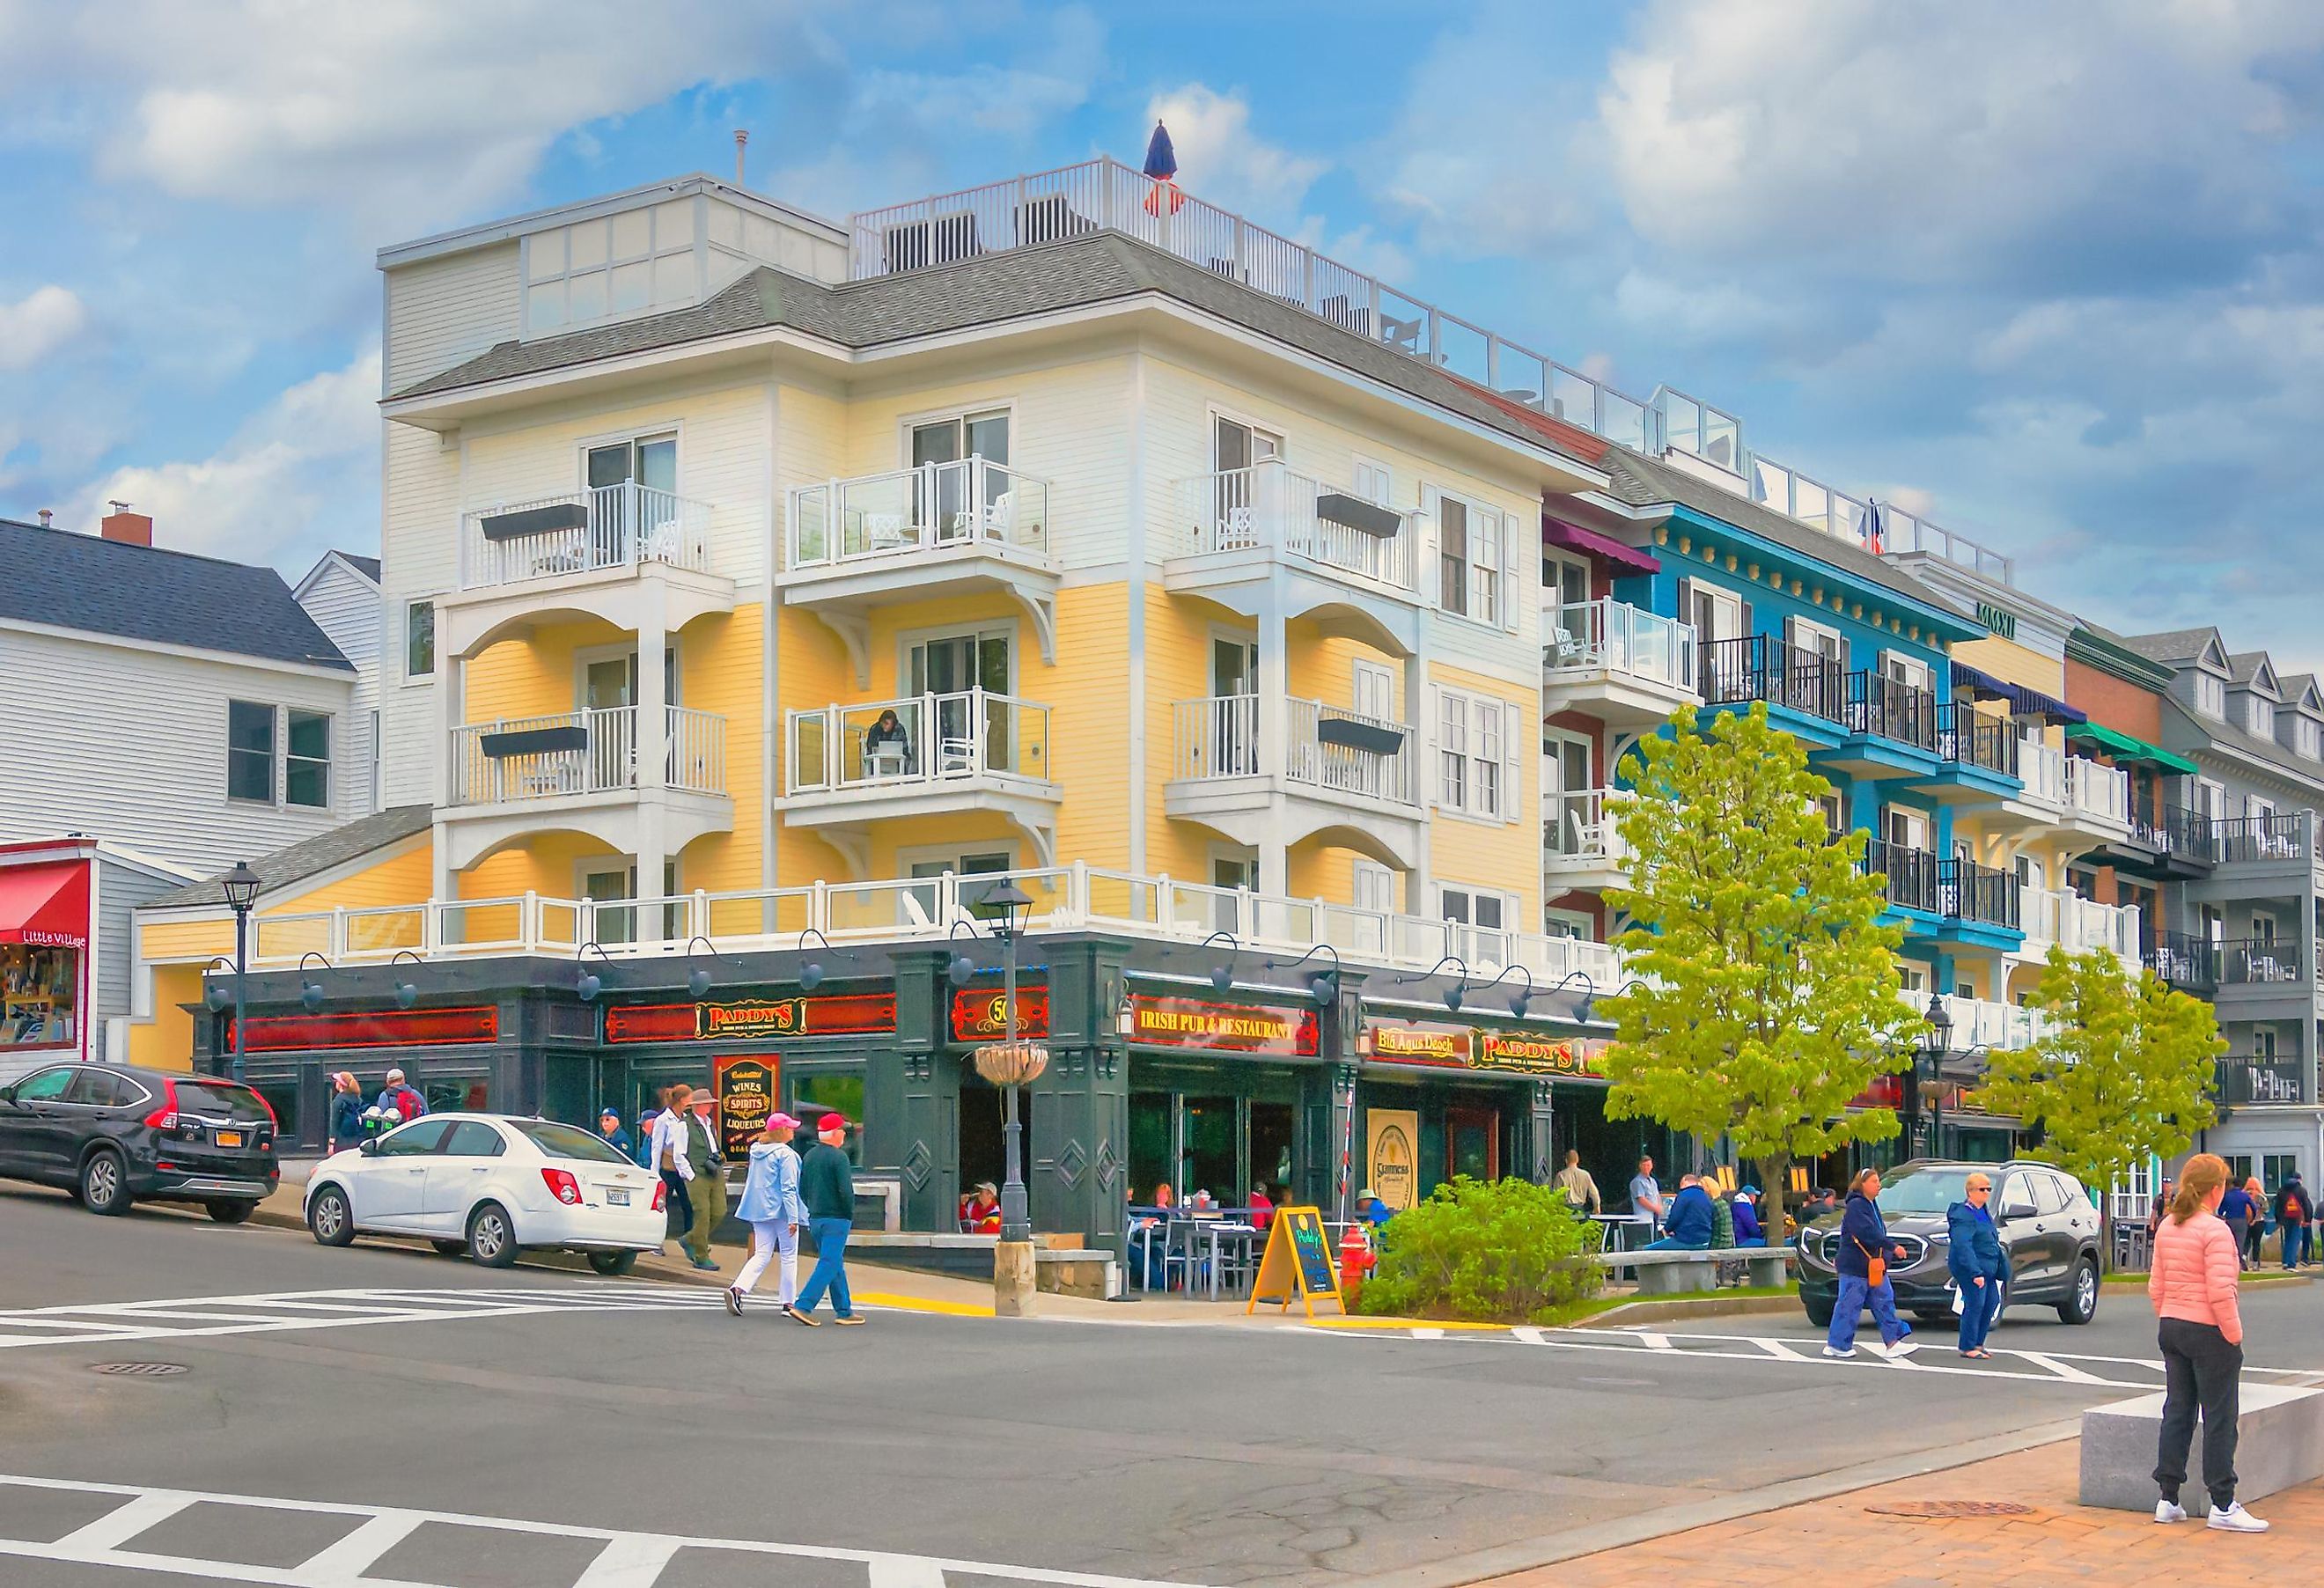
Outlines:
<svg viewBox="0 0 2324 1588"><path fill-rule="evenodd" d="M1783 1511L1713 1523L1666 1539L1608 1548L1490 1588L1634 1588L1636 1583L1789 1583L1838 1569L1885 1588L2057 1588L2059 1583L2301 1581L2324 1541L2324 1483L2254 1500L2273 1525L2259 1537L2185 1521L2157 1528L2143 1511L2075 1504L2080 1444L2066 1439L1954 1472L1862 1488ZM2027 1516L1915 1518L1878 1507L1929 1500L2003 1500Z"/></svg>

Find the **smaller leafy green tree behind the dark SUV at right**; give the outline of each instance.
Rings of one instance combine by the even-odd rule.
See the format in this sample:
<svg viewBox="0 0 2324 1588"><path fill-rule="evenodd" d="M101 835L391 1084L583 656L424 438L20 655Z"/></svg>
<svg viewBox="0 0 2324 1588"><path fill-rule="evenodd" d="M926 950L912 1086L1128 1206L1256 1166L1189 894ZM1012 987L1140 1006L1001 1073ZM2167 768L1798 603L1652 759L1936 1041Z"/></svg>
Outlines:
<svg viewBox="0 0 2324 1588"><path fill-rule="evenodd" d="M2082 1181L2101 1209L2131 1165L2185 1153L2217 1118L2210 1088L2226 1042L2201 997L2152 970L2124 977L2106 949L2052 944L2031 1007L2052 1018L2050 1030L2033 1046L1994 1053L1978 1097L2040 1125L2027 1153Z"/></svg>

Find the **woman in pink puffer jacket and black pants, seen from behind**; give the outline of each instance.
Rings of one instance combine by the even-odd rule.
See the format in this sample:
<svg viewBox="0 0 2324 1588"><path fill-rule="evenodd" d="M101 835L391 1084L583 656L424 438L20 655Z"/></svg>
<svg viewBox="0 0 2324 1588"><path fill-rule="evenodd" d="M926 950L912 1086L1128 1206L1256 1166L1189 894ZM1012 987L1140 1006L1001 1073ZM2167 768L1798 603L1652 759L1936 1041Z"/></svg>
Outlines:
<svg viewBox="0 0 2324 1588"><path fill-rule="evenodd" d="M2243 1314L2236 1309L2236 1246L2219 1221L2226 1160L2196 1153L2180 1169L2171 1216L2154 1232L2147 1300L2159 1318L2164 1349L2164 1430L2154 1453L2154 1521L2187 1518L2178 1502L2187 1481L2194 1414L2203 1411L2203 1488L2210 1525L2222 1532L2266 1532L2236 1504L2236 1390L2243 1376Z"/></svg>

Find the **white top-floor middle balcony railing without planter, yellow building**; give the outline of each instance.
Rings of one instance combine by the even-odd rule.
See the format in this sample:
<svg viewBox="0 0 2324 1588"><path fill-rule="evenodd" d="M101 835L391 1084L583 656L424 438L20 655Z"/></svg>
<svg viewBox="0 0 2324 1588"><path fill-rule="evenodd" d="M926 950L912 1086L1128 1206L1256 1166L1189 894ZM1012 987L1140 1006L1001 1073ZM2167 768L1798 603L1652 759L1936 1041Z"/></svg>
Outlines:
<svg viewBox="0 0 2324 1588"><path fill-rule="evenodd" d="M1043 553L1048 481L974 456L790 493L788 567L976 544Z"/></svg>

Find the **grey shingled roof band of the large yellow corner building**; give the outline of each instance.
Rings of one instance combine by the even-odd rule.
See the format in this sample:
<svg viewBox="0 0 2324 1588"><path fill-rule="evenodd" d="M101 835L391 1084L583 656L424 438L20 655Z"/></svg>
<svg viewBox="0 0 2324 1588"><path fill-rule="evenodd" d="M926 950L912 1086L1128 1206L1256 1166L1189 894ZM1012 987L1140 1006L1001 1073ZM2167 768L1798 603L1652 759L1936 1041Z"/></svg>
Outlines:
<svg viewBox="0 0 2324 1588"><path fill-rule="evenodd" d="M760 265L693 309L648 314L560 337L497 342L462 365L407 386L390 402L776 326L846 349L867 349L1143 293L1174 298L1434 402L1499 435L1580 460L1580 449L1564 446L1557 435L1522 423L1469 381L1120 233L1092 233L1030 249L981 253L934 270L841 286L825 286Z"/></svg>

